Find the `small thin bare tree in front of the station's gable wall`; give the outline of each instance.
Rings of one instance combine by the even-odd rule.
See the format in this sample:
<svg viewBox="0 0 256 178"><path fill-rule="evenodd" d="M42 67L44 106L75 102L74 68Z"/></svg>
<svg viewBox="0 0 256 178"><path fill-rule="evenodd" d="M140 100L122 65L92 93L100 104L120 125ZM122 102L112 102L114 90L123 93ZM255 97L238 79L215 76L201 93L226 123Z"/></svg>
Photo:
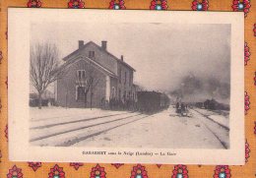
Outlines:
<svg viewBox="0 0 256 178"><path fill-rule="evenodd" d="M88 93L89 91L91 92L90 106L92 109L94 90L96 89L96 85L100 81L99 74L96 70L96 66L94 66L92 62L88 62L83 65L80 64L79 69L85 71L85 75L83 76L81 74L81 76L77 76L77 85L78 87L83 88L85 107L87 107L88 103Z"/></svg>

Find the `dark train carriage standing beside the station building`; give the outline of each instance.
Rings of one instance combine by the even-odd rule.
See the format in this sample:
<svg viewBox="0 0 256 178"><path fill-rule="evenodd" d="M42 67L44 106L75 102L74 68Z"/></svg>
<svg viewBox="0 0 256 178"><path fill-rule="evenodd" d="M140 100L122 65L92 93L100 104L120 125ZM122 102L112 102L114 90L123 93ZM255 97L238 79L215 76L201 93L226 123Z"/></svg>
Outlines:
<svg viewBox="0 0 256 178"><path fill-rule="evenodd" d="M169 107L169 97L158 91L137 91L137 109L145 113L156 113Z"/></svg>

